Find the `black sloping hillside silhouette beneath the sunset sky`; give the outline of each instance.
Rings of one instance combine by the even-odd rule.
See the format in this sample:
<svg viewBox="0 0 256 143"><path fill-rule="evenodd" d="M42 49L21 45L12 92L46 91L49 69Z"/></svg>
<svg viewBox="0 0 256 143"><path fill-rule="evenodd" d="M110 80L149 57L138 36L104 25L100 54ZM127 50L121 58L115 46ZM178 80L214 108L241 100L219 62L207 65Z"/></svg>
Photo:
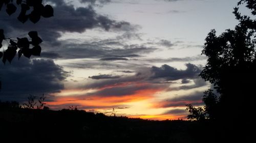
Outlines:
<svg viewBox="0 0 256 143"><path fill-rule="evenodd" d="M209 132L201 131L210 126L108 117L84 110L29 109L17 102L1 102L0 115L1 141L10 142L204 142Z"/></svg>

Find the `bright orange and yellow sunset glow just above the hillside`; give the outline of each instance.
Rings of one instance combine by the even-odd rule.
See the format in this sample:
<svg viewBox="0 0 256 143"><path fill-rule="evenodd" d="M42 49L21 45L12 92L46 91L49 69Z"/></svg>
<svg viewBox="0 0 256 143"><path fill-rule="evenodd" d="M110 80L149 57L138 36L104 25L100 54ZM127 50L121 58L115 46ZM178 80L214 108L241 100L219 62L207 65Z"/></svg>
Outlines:
<svg viewBox="0 0 256 143"><path fill-rule="evenodd" d="M97 89L98 91L104 90L106 88L114 88L116 86L122 87L126 86L129 83L123 83L119 85L111 85L108 87L104 87L101 89ZM137 86L143 86L147 83L135 83ZM152 100L155 100L155 95L158 92L162 92L163 88L155 88L155 89L142 89L136 91L134 94L131 95L123 95L123 96L99 96L99 95L90 95L87 96L86 94L89 93L89 90L63 90L60 94L55 96L55 101L46 102L47 105L52 109L68 109L69 106L77 106L78 109L82 110L94 110L95 112L111 112L112 108L117 107L132 107L120 109L120 115L129 115L129 118L141 118L147 120L178 120L178 119L186 119L185 115L152 115L152 112L148 112L151 110L152 107L155 109L163 108L162 106L169 103L152 103ZM97 92L96 92L97 93ZM77 96L76 96L77 95ZM84 96L82 96L84 95ZM132 105L132 106L130 106ZM143 108L143 109L142 109ZM137 114L138 110L140 114L141 112L147 112L148 115L133 115ZM163 109L166 110L166 109ZM144 112L144 113L145 113ZM156 110L153 111L156 113ZM160 110L162 112L162 109ZM159 112L157 112L159 113ZM106 113L108 115L108 113ZM153 113L154 114L154 113Z"/></svg>

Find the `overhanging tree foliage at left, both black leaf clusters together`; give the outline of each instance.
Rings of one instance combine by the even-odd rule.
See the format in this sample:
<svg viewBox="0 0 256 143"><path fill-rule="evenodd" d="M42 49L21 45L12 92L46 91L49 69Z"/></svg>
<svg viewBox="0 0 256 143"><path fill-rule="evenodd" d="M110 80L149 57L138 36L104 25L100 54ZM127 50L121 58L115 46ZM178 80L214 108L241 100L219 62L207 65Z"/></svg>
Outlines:
<svg viewBox="0 0 256 143"><path fill-rule="evenodd" d="M50 5L42 5L42 0L16 0L16 3L13 0L1 0L0 1L0 11L3 7L6 7L6 12L10 16L16 12L17 6L20 7L21 11L17 17L18 21L25 23L27 20L36 23L40 20L40 17L52 17L53 16L53 8ZM28 11L33 9L29 14ZM2 59L5 64L6 61L11 61L15 57L18 50L18 59L24 55L27 58L30 58L31 55L39 56L41 53L41 47L39 44L42 42L41 38L38 37L36 31L31 31L28 33L31 41L25 38L17 38L12 39L6 37L4 35L4 30L0 27L0 59ZM13 36L12 36L13 37ZM4 49L2 42L6 40L8 42L7 49ZM32 47L32 48L30 48ZM1 81L0 81L0 89L1 89Z"/></svg>

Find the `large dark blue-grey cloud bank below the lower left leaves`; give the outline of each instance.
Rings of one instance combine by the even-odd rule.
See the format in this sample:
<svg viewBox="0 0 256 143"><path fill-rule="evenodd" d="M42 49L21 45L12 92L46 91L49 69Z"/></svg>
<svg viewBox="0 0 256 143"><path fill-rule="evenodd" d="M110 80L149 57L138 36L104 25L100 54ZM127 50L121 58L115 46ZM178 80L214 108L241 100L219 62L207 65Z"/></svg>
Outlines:
<svg viewBox="0 0 256 143"><path fill-rule="evenodd" d="M3 100L21 101L29 94L59 92L69 74L52 60L14 59L11 64L0 64Z"/></svg>

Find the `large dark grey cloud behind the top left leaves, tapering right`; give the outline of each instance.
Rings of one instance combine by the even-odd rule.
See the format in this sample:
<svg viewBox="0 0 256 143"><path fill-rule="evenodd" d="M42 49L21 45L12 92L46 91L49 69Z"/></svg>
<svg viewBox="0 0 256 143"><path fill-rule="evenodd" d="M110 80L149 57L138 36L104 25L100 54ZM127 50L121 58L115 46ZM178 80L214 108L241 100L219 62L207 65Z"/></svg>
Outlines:
<svg viewBox="0 0 256 143"><path fill-rule="evenodd" d="M15 36L17 33L26 34L29 31L37 31L39 36L45 42L51 42L51 45L60 44L57 38L60 37L59 32L78 32L82 33L92 28L103 28L106 31L123 31L133 26L129 22L116 21L107 16L96 13L92 6L74 8L72 5L66 4L63 0L50 1L56 4L54 7L54 16L51 18L41 18L39 22L33 24L30 21L21 23L17 21L20 9L11 16L5 12L0 13L1 28L5 30L6 36Z"/></svg>

